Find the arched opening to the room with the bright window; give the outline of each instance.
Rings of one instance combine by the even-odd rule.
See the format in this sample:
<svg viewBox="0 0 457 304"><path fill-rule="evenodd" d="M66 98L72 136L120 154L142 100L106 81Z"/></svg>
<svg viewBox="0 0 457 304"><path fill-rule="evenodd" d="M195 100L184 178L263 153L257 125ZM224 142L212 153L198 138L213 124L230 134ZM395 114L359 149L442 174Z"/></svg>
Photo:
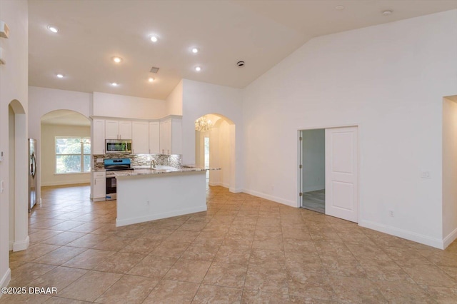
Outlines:
<svg viewBox="0 0 457 304"><path fill-rule="evenodd" d="M41 116L40 186L90 182L91 121L72 110L55 110Z"/></svg>

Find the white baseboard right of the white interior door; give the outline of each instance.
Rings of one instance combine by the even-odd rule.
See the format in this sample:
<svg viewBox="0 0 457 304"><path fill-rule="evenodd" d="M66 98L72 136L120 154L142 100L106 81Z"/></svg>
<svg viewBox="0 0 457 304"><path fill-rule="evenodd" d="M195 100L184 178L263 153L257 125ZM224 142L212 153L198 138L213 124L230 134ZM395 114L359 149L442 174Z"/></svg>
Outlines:
<svg viewBox="0 0 457 304"><path fill-rule="evenodd" d="M380 223L374 223L372 221L360 221L359 226L370 228L376 231L387 233L390 235L398 236L399 238L405 238L406 240L412 240L413 242L421 243L424 245L432 246L438 249L444 249L443 240L439 238L431 238L427 235L422 235L419 233L414 233L408 230L398 229L391 226L386 226Z"/></svg>

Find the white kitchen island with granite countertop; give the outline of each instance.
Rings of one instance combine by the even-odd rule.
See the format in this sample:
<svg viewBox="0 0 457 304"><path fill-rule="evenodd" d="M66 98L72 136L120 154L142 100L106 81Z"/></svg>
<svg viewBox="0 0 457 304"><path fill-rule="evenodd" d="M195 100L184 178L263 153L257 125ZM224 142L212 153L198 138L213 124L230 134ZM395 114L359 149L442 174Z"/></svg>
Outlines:
<svg viewBox="0 0 457 304"><path fill-rule="evenodd" d="M116 173L116 226L206 211L206 171L158 166Z"/></svg>

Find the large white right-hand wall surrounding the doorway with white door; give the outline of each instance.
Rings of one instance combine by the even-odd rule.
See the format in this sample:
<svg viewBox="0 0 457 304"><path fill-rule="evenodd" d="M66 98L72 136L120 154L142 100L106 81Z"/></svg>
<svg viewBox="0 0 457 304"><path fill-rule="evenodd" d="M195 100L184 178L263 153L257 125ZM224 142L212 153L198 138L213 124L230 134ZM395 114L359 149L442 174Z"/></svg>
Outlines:
<svg viewBox="0 0 457 304"><path fill-rule="evenodd" d="M358 124L359 224L443 246L442 97L457 91L456 36L457 11L446 11L311 39L263 74L243 91L246 192L297 206L297 130Z"/></svg>

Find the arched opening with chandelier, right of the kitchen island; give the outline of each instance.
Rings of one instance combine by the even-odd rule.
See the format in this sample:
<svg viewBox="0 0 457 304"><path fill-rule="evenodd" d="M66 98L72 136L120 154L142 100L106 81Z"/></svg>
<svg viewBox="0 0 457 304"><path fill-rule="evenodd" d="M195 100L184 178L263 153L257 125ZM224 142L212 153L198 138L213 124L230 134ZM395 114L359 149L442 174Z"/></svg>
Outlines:
<svg viewBox="0 0 457 304"><path fill-rule="evenodd" d="M201 116L210 122L209 130L199 131L196 125L195 163L197 166L221 168L209 171L209 186L223 186L233 191L235 188L235 132L236 126L231 119L217 113Z"/></svg>

